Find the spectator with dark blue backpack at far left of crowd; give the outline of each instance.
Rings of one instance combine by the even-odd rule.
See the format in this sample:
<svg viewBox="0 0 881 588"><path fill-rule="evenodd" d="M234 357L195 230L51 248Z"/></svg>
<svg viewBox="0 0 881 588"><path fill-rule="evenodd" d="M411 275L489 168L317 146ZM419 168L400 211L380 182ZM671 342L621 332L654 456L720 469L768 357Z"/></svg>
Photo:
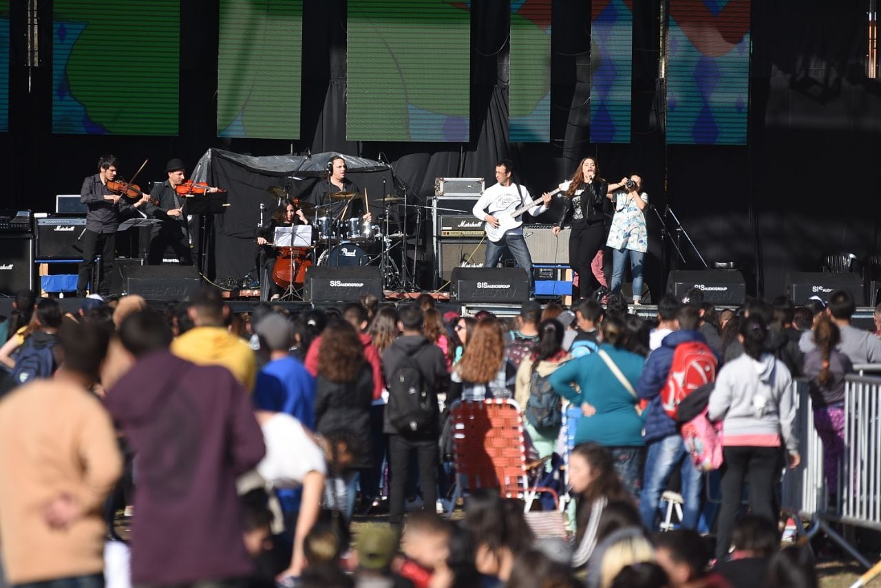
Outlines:
<svg viewBox="0 0 881 588"><path fill-rule="evenodd" d="M12 379L19 385L38 378L50 378L63 360L58 345L58 328L63 314L54 298L42 298L33 313L36 325L14 356Z"/></svg>

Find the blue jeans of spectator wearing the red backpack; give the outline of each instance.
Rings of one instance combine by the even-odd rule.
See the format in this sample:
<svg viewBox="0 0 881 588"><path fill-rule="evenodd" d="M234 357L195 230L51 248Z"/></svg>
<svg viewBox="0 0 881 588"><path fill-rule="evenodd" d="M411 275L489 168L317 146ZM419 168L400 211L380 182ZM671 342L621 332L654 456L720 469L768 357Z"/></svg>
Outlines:
<svg viewBox="0 0 881 588"><path fill-rule="evenodd" d="M694 467L691 457L685 452L682 437L670 435L648 444L640 517L642 517L642 525L649 532L657 530L655 519L658 514L658 503L661 502L661 495L667 489L670 474L676 467L680 467L682 472L682 498L685 501L682 505L682 526L686 529L698 526L700 471Z"/></svg>

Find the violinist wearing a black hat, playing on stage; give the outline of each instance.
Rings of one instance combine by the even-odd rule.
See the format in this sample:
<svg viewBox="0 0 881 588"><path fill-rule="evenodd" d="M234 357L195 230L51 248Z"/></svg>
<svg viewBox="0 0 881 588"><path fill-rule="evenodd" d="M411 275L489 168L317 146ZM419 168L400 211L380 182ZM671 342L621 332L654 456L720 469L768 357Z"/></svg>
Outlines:
<svg viewBox="0 0 881 588"><path fill-rule="evenodd" d="M168 246L172 247L181 265L193 265L193 254L189 248L189 226L183 209L186 197L174 191L186 178L184 172L180 159L169 160L166 165L168 179L154 186L150 193L159 204L148 203L144 207L144 212L159 219L159 223L152 228L150 250L147 254L147 263L152 266L162 263ZM218 189L211 187L207 191L217 192Z"/></svg>

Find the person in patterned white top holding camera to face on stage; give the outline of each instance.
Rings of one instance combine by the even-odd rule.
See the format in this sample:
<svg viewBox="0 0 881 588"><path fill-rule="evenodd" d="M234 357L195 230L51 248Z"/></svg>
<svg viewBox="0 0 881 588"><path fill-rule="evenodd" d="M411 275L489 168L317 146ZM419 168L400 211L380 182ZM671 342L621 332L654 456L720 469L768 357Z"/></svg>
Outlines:
<svg viewBox="0 0 881 588"><path fill-rule="evenodd" d="M633 304L640 304L642 297L642 260L648 251L648 229L645 209L648 194L640 192L642 178L635 173L617 184L610 184L609 198L615 207L611 219L609 239L606 246L612 250L611 293L621 291L624 264L630 258L633 274Z"/></svg>

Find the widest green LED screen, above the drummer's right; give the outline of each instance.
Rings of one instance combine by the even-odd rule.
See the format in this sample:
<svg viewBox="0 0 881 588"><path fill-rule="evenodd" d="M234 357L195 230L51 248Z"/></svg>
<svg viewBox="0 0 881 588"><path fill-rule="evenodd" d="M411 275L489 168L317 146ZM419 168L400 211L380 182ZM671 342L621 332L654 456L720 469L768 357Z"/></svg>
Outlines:
<svg viewBox="0 0 881 588"><path fill-rule="evenodd" d="M349 0L347 30L348 140L469 140L467 4Z"/></svg>

